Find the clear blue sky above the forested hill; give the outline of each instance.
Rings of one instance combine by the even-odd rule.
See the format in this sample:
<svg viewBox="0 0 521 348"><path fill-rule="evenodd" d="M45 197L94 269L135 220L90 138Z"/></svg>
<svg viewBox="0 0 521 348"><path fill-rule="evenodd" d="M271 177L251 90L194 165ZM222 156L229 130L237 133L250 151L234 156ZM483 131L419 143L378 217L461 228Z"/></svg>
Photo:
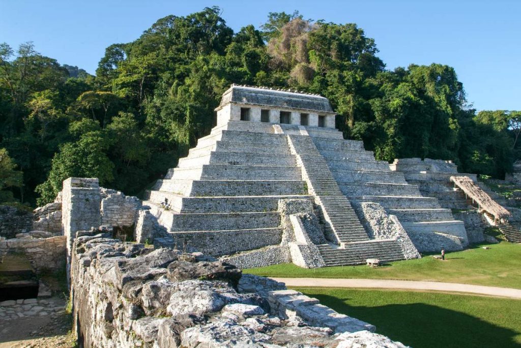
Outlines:
<svg viewBox="0 0 521 348"><path fill-rule="evenodd" d="M218 5L238 31L268 12L354 22L388 69L432 62L456 69L478 110L521 110L521 1L517 0L0 0L0 42L33 41L41 54L94 73L105 48L135 40L157 19Z"/></svg>

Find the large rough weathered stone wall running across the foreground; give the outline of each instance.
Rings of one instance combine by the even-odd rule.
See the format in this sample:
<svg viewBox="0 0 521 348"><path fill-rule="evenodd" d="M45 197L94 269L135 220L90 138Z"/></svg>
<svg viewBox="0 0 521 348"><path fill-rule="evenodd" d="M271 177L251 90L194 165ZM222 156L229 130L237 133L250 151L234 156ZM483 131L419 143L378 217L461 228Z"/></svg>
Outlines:
<svg viewBox="0 0 521 348"><path fill-rule="evenodd" d="M82 231L72 249L79 346L404 347L273 280L96 233Z"/></svg>

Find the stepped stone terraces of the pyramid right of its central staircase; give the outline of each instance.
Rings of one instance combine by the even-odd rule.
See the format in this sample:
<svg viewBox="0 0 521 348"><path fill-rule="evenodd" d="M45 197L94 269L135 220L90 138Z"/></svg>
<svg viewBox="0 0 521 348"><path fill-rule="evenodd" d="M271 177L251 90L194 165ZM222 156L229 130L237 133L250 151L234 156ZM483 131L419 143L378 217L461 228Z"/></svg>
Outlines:
<svg viewBox="0 0 521 348"><path fill-rule="evenodd" d="M377 161L361 141L313 141L349 200L381 204L398 217L410 236L441 232L466 238L463 222L454 220L450 209L442 208L437 198L421 195L417 185L408 183L403 173L391 171L386 161Z"/></svg>

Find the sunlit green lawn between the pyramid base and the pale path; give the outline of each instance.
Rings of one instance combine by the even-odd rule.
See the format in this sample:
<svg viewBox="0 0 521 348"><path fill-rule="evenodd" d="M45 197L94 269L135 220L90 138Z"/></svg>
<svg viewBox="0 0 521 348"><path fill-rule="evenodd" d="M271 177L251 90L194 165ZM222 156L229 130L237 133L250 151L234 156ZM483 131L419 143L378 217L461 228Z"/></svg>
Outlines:
<svg viewBox="0 0 521 348"><path fill-rule="evenodd" d="M474 246L446 254L445 261L424 256L376 268L363 265L306 269L281 264L245 269L244 273L266 277L432 280L521 289L521 244L483 245L490 250L482 249L481 245Z"/></svg>

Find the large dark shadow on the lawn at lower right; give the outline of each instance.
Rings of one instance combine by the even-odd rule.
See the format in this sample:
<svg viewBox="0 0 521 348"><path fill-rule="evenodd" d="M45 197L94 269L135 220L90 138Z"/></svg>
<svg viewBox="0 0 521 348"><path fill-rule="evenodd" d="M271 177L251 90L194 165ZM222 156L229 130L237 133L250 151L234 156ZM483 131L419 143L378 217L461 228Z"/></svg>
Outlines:
<svg viewBox="0 0 521 348"><path fill-rule="evenodd" d="M367 321L377 333L414 348L521 347L519 333L479 318L424 303L350 306L330 295L313 294L337 312Z"/></svg>

